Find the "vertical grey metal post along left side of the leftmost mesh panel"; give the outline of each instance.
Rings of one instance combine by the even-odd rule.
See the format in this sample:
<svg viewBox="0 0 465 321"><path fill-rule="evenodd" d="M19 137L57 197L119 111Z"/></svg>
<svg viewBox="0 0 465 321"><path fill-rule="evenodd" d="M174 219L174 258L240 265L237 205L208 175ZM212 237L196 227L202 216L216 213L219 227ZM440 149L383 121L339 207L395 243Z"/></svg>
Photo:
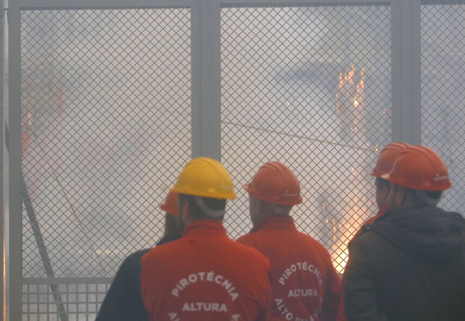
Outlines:
<svg viewBox="0 0 465 321"><path fill-rule="evenodd" d="M21 213L21 17L20 6L8 8L9 52L9 312L10 320L21 320L22 213Z"/></svg>

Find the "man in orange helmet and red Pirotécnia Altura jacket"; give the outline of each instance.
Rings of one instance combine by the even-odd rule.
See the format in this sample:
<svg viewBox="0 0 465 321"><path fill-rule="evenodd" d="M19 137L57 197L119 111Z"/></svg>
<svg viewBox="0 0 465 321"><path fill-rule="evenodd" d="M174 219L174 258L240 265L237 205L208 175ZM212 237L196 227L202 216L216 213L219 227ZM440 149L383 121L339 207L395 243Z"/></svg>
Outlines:
<svg viewBox="0 0 465 321"><path fill-rule="evenodd" d="M328 251L300 233L290 212L302 203L297 177L285 165L270 162L243 185L249 193L253 228L238 242L270 260L272 301L269 321L334 320L341 296L340 279Z"/></svg>

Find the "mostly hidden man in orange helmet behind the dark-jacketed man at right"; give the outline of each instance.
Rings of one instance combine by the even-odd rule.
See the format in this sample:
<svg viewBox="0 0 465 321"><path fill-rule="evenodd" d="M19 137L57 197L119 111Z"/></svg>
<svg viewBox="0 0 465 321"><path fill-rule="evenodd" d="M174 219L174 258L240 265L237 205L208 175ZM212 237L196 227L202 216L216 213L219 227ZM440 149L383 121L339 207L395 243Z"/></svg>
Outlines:
<svg viewBox="0 0 465 321"><path fill-rule="evenodd" d="M382 216L387 209L387 197L389 191L391 190L391 183L382 178L383 175L389 173L392 169L394 161L399 157L400 153L404 151L406 147L410 146L405 143L391 143L387 144L385 148L379 154L378 160L376 161L373 171L370 173L371 176L376 177L375 187L376 187L376 204L378 205L378 214L370 217L362 224L360 229L355 233L353 238L349 241L351 244L357 236L359 236L364 229L366 229L370 224L374 223L380 216ZM347 246L349 246L347 244ZM345 284L345 274L342 276L342 288L344 289ZM339 305L338 321L346 321L347 318L344 313L344 297L341 298L341 303Z"/></svg>

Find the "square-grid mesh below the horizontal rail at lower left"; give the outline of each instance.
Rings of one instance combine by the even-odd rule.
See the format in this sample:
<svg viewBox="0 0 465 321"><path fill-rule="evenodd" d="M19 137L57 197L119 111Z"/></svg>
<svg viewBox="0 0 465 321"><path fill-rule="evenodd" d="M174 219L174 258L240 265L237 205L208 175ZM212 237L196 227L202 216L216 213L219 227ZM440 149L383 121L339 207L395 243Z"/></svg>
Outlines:
<svg viewBox="0 0 465 321"><path fill-rule="evenodd" d="M94 321L109 286L78 282L57 284L52 290L50 284L23 284L22 320Z"/></svg>

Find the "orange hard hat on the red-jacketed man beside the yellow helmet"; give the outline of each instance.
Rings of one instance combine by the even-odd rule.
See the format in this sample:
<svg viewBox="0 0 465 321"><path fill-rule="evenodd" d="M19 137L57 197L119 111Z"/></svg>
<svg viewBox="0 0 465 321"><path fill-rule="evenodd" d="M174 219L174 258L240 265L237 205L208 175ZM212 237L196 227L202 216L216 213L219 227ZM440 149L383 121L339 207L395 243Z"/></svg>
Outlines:
<svg viewBox="0 0 465 321"><path fill-rule="evenodd" d="M278 162L264 164L255 173L252 182L242 187L250 195L269 203L280 205L302 203L299 180L286 165Z"/></svg>

